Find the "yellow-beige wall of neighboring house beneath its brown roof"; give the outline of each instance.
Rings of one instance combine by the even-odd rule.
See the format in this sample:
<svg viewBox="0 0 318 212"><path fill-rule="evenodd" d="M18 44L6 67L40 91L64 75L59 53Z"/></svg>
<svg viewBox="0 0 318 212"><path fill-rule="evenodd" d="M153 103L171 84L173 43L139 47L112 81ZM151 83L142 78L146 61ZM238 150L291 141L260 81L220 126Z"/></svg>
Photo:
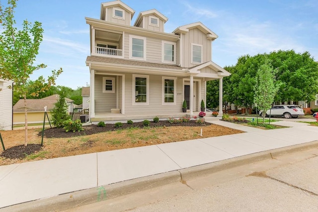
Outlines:
<svg viewBox="0 0 318 212"><path fill-rule="evenodd" d="M47 112L49 119L51 120L51 112ZM32 123L43 123L44 120L44 112L28 112L28 124ZM49 122L47 117L45 118L45 122ZM13 124L24 124L24 113L23 112L15 112L13 113Z"/></svg>

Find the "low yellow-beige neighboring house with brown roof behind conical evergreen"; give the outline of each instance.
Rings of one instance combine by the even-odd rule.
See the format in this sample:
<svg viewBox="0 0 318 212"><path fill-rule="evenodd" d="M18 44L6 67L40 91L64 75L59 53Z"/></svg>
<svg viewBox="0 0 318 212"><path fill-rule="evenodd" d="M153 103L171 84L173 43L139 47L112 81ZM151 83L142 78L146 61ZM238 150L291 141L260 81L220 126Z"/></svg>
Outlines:
<svg viewBox="0 0 318 212"><path fill-rule="evenodd" d="M28 124L33 123L43 123L44 120L44 107L47 106L47 114L51 118L51 110L54 108L54 104L59 100L60 95L54 94L42 99L26 99L27 106L27 119ZM73 100L65 98L69 110L72 107L73 112ZM69 111L70 113L70 111ZM48 122L48 119L45 120ZM19 99L19 101L13 106L13 124L24 124L24 99Z"/></svg>

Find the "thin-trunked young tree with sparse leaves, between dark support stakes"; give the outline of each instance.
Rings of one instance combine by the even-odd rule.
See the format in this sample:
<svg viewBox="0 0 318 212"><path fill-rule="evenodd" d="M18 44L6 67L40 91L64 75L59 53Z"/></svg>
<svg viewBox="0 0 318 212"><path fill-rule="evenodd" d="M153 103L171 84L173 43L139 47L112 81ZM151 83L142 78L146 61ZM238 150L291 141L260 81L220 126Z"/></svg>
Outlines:
<svg viewBox="0 0 318 212"><path fill-rule="evenodd" d="M14 89L23 96L25 114L25 143L27 145L27 105L26 96L28 94L28 79L33 71L45 68L44 64L34 65L38 54L40 43L43 40L43 29L41 23L35 21L34 24L23 21L22 29L18 30L14 25L14 8L16 0L8 0L7 7L3 8L0 3L0 24L3 28L0 34L0 78L14 81ZM55 84L55 79L60 75L62 69L52 71L52 75L47 80L40 76L35 85L43 85L32 95L45 92L51 85Z"/></svg>

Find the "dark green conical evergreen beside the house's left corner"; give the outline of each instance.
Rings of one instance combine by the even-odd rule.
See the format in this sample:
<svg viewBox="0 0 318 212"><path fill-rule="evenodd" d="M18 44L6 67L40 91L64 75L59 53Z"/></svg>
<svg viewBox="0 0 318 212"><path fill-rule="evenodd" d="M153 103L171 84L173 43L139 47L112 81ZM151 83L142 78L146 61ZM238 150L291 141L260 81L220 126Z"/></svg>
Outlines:
<svg viewBox="0 0 318 212"><path fill-rule="evenodd" d="M51 110L51 121L57 128L63 128L63 122L69 119L68 104L66 103L64 94L60 95L57 103L54 104L54 108Z"/></svg>

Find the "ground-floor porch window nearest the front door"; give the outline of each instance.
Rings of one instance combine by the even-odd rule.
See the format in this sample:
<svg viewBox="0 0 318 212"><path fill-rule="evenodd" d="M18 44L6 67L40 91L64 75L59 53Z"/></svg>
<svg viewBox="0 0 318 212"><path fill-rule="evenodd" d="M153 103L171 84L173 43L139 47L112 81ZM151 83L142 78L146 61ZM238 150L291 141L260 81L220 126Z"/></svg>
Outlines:
<svg viewBox="0 0 318 212"><path fill-rule="evenodd" d="M162 105L176 104L176 78L162 76Z"/></svg>

